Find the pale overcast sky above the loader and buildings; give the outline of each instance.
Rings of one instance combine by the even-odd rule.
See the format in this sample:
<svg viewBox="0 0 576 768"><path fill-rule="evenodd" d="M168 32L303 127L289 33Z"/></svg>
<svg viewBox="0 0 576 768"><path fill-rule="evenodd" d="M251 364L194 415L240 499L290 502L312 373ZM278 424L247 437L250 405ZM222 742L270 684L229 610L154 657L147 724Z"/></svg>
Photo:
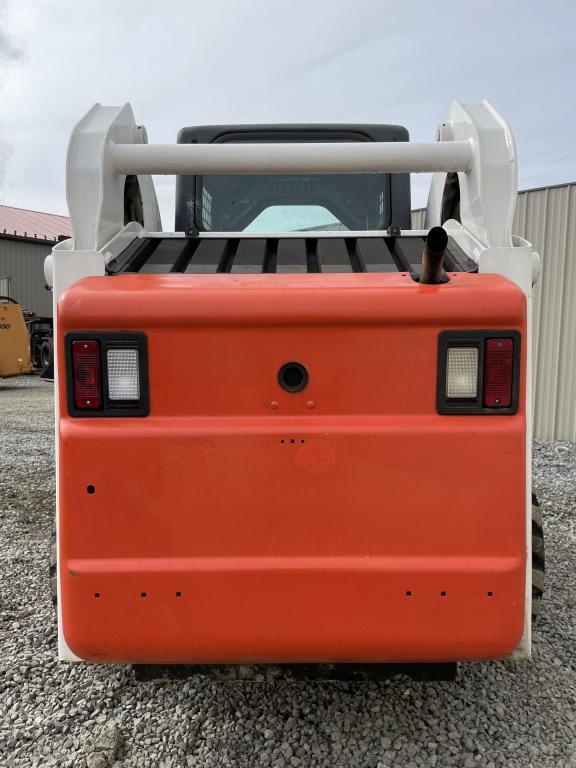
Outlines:
<svg viewBox="0 0 576 768"><path fill-rule="evenodd" d="M427 141L453 99L488 98L521 189L576 181L575 27L573 0L0 0L0 202L67 213L68 137L96 101L130 101L151 142L229 122ZM173 179L156 187L171 229Z"/></svg>

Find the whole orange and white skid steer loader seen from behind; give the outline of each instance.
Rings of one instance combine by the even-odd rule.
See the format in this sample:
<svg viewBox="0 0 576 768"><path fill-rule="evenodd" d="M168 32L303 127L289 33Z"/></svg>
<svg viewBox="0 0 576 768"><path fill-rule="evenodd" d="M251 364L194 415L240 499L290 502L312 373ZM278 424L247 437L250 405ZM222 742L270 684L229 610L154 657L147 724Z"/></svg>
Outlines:
<svg viewBox="0 0 576 768"><path fill-rule="evenodd" d="M423 230L411 172L434 174ZM151 174L178 177L175 232ZM250 125L148 145L129 105L90 110L74 237L46 264L61 659L366 679L530 656L539 258L516 193L487 102L428 144Z"/></svg>

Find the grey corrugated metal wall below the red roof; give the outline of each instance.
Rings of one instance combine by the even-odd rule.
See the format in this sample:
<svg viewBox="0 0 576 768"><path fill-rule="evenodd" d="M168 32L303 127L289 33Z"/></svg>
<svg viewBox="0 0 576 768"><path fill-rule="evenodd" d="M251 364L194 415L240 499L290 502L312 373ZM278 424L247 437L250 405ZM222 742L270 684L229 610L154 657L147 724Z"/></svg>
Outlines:
<svg viewBox="0 0 576 768"><path fill-rule="evenodd" d="M0 279L10 278L13 299L37 315L52 317L52 292L44 288L44 259L52 246L0 237Z"/></svg>

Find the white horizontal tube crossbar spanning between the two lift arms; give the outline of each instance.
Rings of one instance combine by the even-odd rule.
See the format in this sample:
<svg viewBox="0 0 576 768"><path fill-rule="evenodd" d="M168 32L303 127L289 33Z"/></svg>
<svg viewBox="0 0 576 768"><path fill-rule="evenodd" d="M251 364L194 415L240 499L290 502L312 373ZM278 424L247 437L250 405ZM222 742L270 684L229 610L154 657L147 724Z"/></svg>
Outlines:
<svg viewBox="0 0 576 768"><path fill-rule="evenodd" d="M468 173L473 140L420 144L111 144L110 155L117 175Z"/></svg>

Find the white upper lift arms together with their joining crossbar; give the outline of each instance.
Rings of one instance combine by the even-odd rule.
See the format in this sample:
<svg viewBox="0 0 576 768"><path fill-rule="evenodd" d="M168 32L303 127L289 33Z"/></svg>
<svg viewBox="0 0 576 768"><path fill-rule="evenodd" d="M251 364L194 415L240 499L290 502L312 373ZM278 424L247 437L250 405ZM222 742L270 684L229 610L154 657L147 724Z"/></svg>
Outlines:
<svg viewBox="0 0 576 768"><path fill-rule="evenodd" d="M70 138L68 207L75 250L100 250L126 222L126 177L140 191L143 229L162 229L156 174L428 173L433 192L427 227L441 223L446 173L458 173L460 222L483 246L510 247L516 203L516 152L506 122L486 101L455 102L439 141L152 144L129 104L96 104ZM128 200L130 200L128 196ZM139 226L139 225L136 225Z"/></svg>

